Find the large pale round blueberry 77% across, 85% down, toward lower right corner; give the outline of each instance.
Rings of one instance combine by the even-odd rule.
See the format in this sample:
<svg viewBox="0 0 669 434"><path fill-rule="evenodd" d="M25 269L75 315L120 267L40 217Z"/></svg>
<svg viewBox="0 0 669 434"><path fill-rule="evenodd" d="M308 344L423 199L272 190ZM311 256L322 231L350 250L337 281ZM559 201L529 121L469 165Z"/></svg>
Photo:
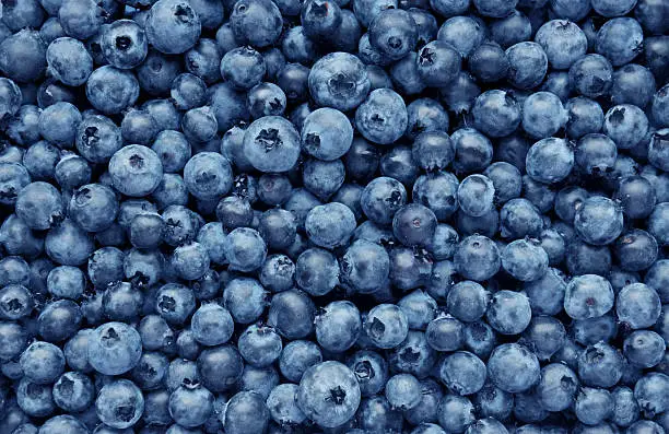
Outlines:
<svg viewBox="0 0 669 434"><path fill-rule="evenodd" d="M495 348L488 361L488 375L500 389L523 392L539 382L539 361L526 347L503 343Z"/></svg>

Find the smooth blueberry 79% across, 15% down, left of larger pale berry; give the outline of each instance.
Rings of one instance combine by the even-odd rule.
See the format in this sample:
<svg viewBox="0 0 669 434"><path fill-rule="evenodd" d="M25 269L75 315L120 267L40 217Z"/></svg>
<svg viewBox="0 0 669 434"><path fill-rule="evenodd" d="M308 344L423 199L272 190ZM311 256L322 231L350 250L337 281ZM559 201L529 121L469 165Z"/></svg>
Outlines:
<svg viewBox="0 0 669 434"><path fill-rule="evenodd" d="M515 44L506 49L506 58L509 62L507 80L518 89L538 86L548 70L548 56L537 43Z"/></svg>

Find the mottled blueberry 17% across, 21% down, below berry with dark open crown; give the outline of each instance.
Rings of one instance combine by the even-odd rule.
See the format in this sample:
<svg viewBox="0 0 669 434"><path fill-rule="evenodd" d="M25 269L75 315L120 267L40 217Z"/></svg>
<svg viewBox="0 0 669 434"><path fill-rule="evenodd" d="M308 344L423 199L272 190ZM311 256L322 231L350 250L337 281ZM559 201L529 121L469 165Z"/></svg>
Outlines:
<svg viewBox="0 0 669 434"><path fill-rule="evenodd" d="M93 107L105 115L119 114L137 102L139 83L132 72L107 64L91 73L86 82L86 97Z"/></svg>

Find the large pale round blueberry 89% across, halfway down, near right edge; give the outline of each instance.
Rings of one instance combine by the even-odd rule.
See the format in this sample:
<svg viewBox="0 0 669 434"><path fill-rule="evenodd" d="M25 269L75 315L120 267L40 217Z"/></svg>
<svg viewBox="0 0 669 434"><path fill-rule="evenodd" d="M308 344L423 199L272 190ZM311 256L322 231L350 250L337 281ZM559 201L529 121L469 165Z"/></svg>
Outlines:
<svg viewBox="0 0 669 434"><path fill-rule="evenodd" d="M585 242L602 246L612 243L622 232L623 214L611 199L595 196L576 210L574 228Z"/></svg>

